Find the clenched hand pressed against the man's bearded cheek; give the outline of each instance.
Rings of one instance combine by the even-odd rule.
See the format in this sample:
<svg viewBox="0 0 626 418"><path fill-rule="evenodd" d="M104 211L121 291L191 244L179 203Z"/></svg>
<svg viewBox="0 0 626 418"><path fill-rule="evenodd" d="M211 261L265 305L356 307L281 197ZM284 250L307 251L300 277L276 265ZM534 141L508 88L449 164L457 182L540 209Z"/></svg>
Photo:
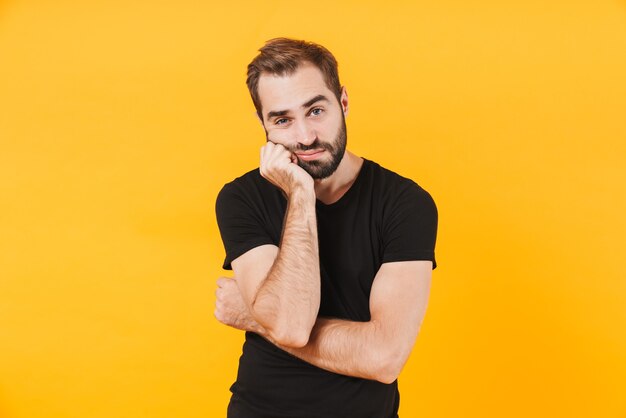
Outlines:
<svg viewBox="0 0 626 418"><path fill-rule="evenodd" d="M299 188L313 191L313 178L297 162L296 156L281 144L268 141L261 147L261 175L287 196Z"/></svg>

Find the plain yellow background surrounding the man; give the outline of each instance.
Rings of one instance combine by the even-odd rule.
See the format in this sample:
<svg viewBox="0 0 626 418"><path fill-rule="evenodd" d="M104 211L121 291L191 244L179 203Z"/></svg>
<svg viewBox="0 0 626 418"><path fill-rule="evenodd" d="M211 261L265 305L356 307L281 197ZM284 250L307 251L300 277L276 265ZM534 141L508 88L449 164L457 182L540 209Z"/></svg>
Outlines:
<svg viewBox="0 0 626 418"><path fill-rule="evenodd" d="M626 417L624 1L0 2L0 417L220 417L245 67L335 53L349 148L440 212L407 417Z"/></svg>

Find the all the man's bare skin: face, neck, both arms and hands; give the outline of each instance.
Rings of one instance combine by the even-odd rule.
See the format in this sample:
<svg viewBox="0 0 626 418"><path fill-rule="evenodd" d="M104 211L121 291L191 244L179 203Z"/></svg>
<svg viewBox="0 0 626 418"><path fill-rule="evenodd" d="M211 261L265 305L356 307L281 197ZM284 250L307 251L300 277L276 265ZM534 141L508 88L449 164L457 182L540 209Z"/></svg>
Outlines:
<svg viewBox="0 0 626 418"><path fill-rule="evenodd" d="M315 167L307 163L332 161L329 149L340 145L347 92L343 88L337 101L321 72L305 64L291 75L263 74L259 96L268 140L261 148L260 172L288 199L285 227L279 247L248 251L232 262L233 279L218 279L215 316L317 367L392 383L408 360L426 312L432 262L383 264L372 284L368 322L317 318L315 200L339 200L363 160L346 151L330 176L316 179L307 172L315 175Z"/></svg>

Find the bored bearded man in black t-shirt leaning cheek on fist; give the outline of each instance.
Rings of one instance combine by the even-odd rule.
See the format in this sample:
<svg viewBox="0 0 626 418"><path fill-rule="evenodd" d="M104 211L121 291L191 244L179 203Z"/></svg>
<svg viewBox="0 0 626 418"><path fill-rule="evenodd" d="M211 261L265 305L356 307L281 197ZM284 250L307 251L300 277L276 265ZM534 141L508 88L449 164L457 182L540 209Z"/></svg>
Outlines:
<svg viewBox="0 0 626 418"><path fill-rule="evenodd" d="M348 95L324 47L268 41L247 84L267 142L216 204L234 277L218 280L215 316L247 331L228 416L397 417L435 204L346 151Z"/></svg>

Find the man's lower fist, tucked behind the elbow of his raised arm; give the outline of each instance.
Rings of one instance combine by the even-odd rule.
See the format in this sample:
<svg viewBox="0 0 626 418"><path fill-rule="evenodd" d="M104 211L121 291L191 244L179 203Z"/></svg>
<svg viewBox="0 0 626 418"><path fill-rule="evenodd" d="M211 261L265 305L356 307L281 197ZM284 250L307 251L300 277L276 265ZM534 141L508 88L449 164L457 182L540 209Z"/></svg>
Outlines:
<svg viewBox="0 0 626 418"><path fill-rule="evenodd" d="M215 291L215 318L224 325L243 331L262 333L241 296L236 279L220 277Z"/></svg>

